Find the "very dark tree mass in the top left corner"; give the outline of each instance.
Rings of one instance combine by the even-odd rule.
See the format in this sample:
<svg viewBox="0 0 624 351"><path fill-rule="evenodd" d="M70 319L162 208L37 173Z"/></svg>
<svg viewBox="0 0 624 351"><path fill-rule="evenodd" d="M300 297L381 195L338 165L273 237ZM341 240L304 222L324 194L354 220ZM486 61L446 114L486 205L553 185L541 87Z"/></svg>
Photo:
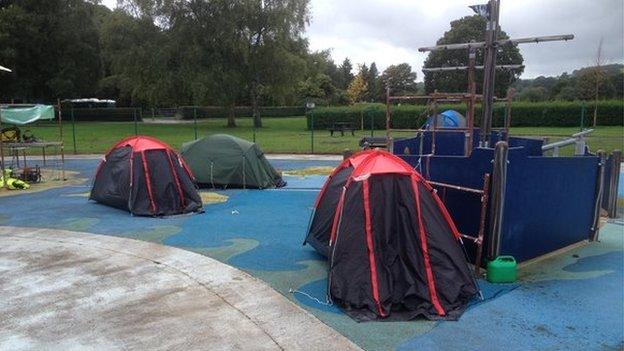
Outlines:
<svg viewBox="0 0 624 351"><path fill-rule="evenodd" d="M99 5L83 0L7 1L0 11L5 99L54 101L89 96L101 78L95 24Z"/></svg>

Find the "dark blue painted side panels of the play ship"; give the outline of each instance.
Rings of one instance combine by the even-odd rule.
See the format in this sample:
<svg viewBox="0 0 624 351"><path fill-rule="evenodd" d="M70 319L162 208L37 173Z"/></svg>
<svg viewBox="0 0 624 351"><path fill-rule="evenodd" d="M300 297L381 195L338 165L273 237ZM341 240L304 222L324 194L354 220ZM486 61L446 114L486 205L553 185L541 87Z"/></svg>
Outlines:
<svg viewBox="0 0 624 351"><path fill-rule="evenodd" d="M593 223L598 159L532 156L541 155L541 140L510 138L510 144L526 147L509 149L501 253L525 261L587 239ZM477 148L470 157L401 157L427 179L481 189L484 174L492 172L494 153ZM458 229L476 235L479 196L455 190L440 190L438 195ZM474 249L467 246L473 254Z"/></svg>

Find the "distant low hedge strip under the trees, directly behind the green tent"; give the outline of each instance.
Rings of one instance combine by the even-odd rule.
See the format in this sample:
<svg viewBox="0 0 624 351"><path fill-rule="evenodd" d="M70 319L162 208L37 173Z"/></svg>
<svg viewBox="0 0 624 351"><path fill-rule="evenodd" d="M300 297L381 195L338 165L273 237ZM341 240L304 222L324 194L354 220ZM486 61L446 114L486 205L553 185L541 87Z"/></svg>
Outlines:
<svg viewBox="0 0 624 351"><path fill-rule="evenodd" d="M178 108L176 117L182 119L193 119L193 113L197 113L197 118L227 118L229 110L220 106L182 106ZM260 116L264 117L292 117L303 116L305 107L303 106L264 106L260 107ZM236 117L251 117L253 110L248 106L237 106L234 108Z"/></svg>

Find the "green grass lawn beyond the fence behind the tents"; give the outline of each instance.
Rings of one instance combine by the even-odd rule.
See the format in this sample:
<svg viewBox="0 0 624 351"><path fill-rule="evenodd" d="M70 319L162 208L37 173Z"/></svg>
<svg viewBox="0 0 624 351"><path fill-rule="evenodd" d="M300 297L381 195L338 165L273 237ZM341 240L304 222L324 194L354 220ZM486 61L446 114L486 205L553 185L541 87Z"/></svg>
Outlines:
<svg viewBox="0 0 624 351"><path fill-rule="evenodd" d="M227 128L225 120L200 120L197 122L197 135L199 137L227 133L244 139L253 139L251 119L241 118L237 120L237 128ZM264 127L256 131L256 142L267 153L310 153L311 133L306 130L306 122L303 117L292 118L264 118ZM59 131L56 125L41 124L23 127L29 129L34 135L44 140L58 140ZM100 154L106 152L116 141L123 137L134 135L133 122L78 122L76 129L76 152L78 154ZM159 138L176 149L182 143L195 138L193 123L185 124L152 124L139 123L139 134L150 135ZM556 141L576 133L578 128L512 128L512 135L546 137L549 141ZM74 152L73 129L70 123L64 124L65 149L68 154ZM358 141L363 136L369 136L369 130L356 131L355 136L350 134L341 137L339 133L329 136L326 130L314 132L314 153L342 153L345 149L357 150ZM384 130L376 130L375 136L384 136ZM413 133L393 134L396 136L409 136ZM618 127L598 127L587 138L591 150L604 149L612 151L622 149L623 129ZM561 150L561 154L571 154L572 147Z"/></svg>

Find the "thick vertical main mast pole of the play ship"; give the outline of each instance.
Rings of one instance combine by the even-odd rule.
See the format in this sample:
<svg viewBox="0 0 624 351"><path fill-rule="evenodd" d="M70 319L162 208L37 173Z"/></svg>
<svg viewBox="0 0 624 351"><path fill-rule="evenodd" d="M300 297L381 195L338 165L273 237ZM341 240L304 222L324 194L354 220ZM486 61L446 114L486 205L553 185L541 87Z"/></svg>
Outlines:
<svg viewBox="0 0 624 351"><path fill-rule="evenodd" d="M492 133L492 105L494 104L494 78L496 73L496 49L500 0L490 0L490 18L485 33L485 68L483 73L483 123L481 123L481 147L490 146Z"/></svg>

